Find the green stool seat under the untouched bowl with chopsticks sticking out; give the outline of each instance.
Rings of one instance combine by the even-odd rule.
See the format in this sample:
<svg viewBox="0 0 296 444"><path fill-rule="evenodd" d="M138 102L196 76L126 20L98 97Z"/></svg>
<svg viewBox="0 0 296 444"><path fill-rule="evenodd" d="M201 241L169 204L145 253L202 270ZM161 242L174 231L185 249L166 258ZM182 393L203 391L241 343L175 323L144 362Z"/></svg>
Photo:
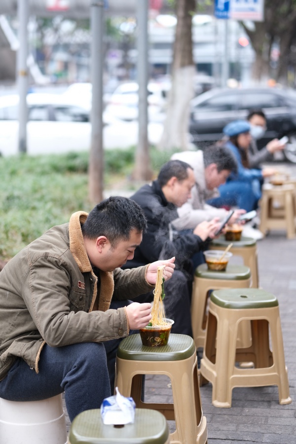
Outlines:
<svg viewBox="0 0 296 444"><path fill-rule="evenodd" d="M195 270L195 276L204 279L227 279L230 281L239 281L251 277L250 268L245 265L227 265L224 271L208 270L208 265L202 263Z"/></svg>

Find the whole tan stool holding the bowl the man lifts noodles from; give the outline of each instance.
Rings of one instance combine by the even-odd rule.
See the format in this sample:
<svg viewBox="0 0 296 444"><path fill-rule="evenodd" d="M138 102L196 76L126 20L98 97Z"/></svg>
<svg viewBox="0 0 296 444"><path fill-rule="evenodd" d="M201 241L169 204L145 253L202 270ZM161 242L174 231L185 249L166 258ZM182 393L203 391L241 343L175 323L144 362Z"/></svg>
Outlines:
<svg viewBox="0 0 296 444"><path fill-rule="evenodd" d="M141 400L142 375L165 374L172 383L173 404L148 404ZM171 333L167 345L145 347L140 334L123 339L117 350L115 386L123 396L131 396L137 407L152 408L176 421L170 435L175 444L207 443L207 421L202 414L197 376L197 356L193 339Z"/></svg>

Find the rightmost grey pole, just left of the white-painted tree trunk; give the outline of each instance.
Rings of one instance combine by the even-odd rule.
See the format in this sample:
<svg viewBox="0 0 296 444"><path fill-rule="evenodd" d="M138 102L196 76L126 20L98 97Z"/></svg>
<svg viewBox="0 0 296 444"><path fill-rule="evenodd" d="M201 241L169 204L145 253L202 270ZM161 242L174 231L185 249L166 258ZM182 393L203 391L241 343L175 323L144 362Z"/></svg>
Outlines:
<svg viewBox="0 0 296 444"><path fill-rule="evenodd" d="M150 157L148 145L148 0L137 1L137 32L138 32L138 84L139 84L139 105L138 105L138 146L136 149L135 171L133 174L136 180L149 180L152 173L150 170Z"/></svg>

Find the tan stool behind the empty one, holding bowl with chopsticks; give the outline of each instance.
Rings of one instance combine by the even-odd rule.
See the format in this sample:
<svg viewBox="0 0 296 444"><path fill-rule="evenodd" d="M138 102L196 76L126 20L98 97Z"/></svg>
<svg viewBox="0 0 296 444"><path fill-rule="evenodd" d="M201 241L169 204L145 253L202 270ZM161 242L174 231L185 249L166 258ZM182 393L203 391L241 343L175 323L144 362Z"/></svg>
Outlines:
<svg viewBox="0 0 296 444"><path fill-rule="evenodd" d="M250 268L245 265L227 265L225 271L209 271L207 264L195 270L191 298L191 325L196 348L204 346L206 337L207 303L210 290L245 288L251 286ZM250 344L250 326L241 326L239 345Z"/></svg>

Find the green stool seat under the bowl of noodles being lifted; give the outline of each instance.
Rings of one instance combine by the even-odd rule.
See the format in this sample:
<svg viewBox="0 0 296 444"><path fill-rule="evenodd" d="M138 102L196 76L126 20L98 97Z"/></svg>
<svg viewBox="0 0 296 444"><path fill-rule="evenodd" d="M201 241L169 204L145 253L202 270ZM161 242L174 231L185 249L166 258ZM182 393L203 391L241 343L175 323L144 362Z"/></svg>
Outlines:
<svg viewBox="0 0 296 444"><path fill-rule="evenodd" d="M117 356L133 361L180 361L194 352L194 341L185 334L170 334L167 345L162 347L146 347L139 334L131 334L120 342Z"/></svg>

